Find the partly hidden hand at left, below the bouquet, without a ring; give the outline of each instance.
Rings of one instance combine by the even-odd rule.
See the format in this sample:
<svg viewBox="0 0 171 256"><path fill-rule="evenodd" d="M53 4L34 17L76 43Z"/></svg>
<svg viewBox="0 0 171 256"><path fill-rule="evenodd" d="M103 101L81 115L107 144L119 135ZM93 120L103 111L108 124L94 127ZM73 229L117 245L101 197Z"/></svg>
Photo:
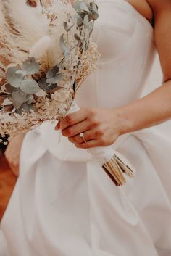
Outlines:
<svg viewBox="0 0 171 256"><path fill-rule="evenodd" d="M19 173L20 151L24 137L25 134L21 133L12 139L12 141L9 142L5 152L5 157L9 162L9 166L16 176L18 176Z"/></svg>

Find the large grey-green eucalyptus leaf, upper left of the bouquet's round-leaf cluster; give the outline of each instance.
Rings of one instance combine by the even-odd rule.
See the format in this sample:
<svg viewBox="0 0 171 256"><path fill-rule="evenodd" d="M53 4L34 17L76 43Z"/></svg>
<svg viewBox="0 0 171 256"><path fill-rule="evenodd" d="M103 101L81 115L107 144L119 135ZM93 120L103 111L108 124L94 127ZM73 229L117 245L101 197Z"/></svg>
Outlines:
<svg viewBox="0 0 171 256"><path fill-rule="evenodd" d="M23 76L21 74L16 74L17 70L20 70L19 65L15 67L9 67L6 73L7 81L14 88L19 88L23 81Z"/></svg>

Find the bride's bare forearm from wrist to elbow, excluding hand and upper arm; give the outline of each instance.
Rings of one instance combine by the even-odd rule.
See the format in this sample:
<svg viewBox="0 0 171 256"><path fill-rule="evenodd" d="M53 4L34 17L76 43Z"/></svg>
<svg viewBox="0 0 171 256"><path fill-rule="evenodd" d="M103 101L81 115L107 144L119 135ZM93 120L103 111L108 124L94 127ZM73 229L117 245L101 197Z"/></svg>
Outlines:
<svg viewBox="0 0 171 256"><path fill-rule="evenodd" d="M118 108L117 113L121 134L148 128L170 119L171 80L142 99Z"/></svg>

